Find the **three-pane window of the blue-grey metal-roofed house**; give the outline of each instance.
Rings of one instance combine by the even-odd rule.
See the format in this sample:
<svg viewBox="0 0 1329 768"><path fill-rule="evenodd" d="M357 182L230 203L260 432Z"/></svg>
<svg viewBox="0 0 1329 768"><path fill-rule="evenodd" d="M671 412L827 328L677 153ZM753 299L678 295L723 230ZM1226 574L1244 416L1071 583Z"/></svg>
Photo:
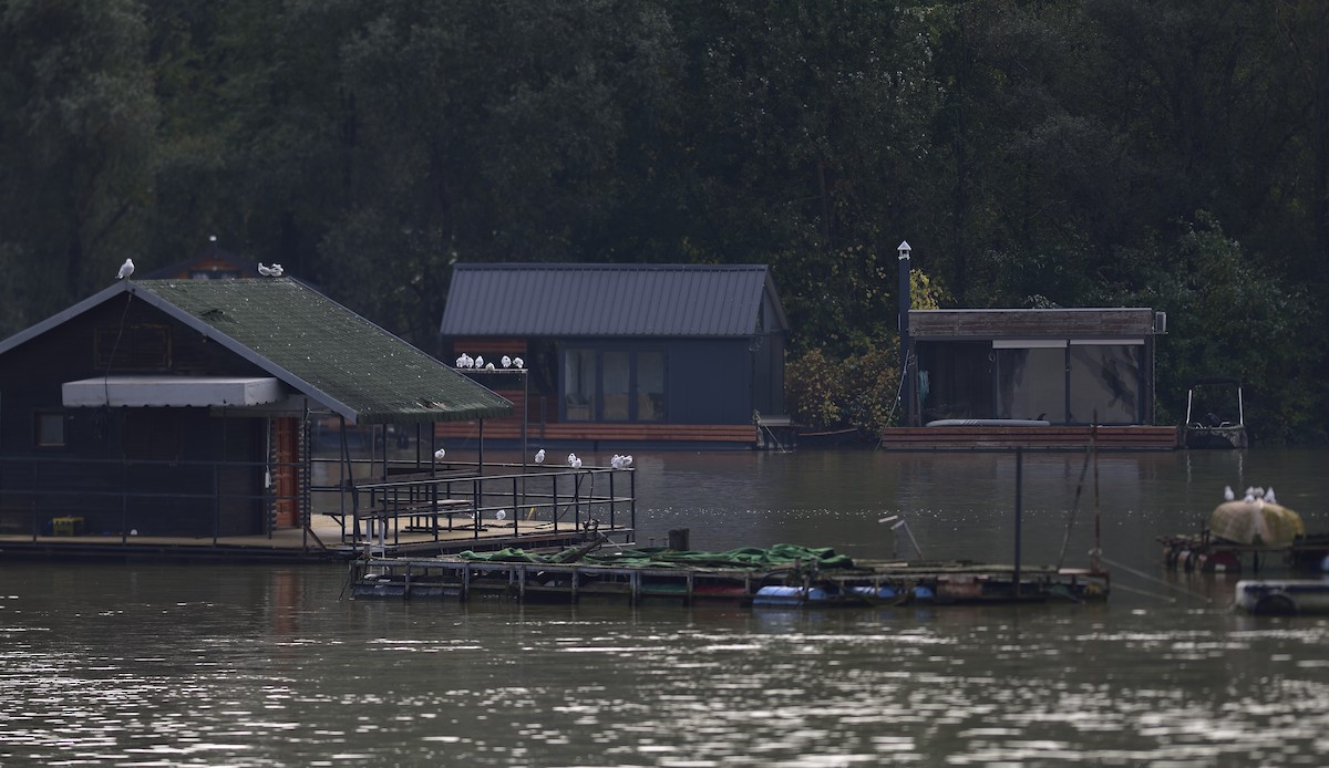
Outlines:
<svg viewBox="0 0 1329 768"><path fill-rule="evenodd" d="M565 421L663 421L664 416L663 352L563 352Z"/></svg>

